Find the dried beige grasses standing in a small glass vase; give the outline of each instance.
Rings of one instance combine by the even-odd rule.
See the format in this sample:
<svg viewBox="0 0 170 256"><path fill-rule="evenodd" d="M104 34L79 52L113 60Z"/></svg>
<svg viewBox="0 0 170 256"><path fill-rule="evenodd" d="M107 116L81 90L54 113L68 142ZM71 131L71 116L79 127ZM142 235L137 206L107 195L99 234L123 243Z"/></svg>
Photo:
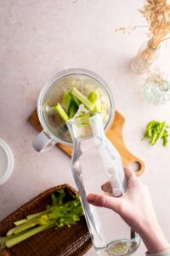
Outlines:
<svg viewBox="0 0 170 256"><path fill-rule="evenodd" d="M143 49L139 50L132 67L136 66L137 72L143 73L156 60L156 50L160 48L161 43L170 38L170 0L146 0L139 12L149 23L147 35L150 40ZM145 26L120 27L116 32L130 34L138 27Z"/></svg>

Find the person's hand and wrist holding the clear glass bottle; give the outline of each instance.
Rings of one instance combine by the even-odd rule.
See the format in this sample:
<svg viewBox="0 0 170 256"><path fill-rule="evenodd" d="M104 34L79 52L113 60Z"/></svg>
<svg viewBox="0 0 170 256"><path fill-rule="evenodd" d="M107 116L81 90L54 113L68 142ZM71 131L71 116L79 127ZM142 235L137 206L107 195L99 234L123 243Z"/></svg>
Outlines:
<svg viewBox="0 0 170 256"><path fill-rule="evenodd" d="M157 222L149 189L127 168L125 174L127 177L125 195L113 197L90 194L87 200L96 207L110 208L118 213L134 231L139 233L150 253L159 253L167 249L169 243ZM108 192L108 183L105 183L102 189Z"/></svg>

